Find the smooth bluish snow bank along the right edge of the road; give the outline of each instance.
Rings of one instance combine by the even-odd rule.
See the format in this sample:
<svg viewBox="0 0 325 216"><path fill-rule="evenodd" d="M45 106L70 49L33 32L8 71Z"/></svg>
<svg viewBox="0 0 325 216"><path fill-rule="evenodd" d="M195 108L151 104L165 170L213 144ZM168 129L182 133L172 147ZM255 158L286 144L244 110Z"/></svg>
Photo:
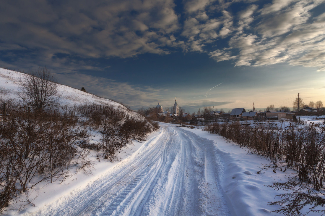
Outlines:
<svg viewBox="0 0 325 216"><path fill-rule="evenodd" d="M220 135L209 134L200 128L184 129L215 142L224 173L221 186L232 215L279 215L270 212L279 209L279 206L270 206L267 203L279 200L275 196L282 194L283 191L275 191L267 185L271 185L272 182L286 182L288 177L296 175L295 171L275 170L274 173L269 169L258 174L257 172L263 169L263 164L270 164L271 161L250 154L248 149L227 142Z"/></svg>

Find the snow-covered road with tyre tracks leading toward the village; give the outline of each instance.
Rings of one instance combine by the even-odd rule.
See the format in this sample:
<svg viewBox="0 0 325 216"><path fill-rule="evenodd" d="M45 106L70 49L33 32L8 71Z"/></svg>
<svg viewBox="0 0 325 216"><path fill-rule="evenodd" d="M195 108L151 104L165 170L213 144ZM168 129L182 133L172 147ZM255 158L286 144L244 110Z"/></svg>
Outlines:
<svg viewBox="0 0 325 216"><path fill-rule="evenodd" d="M175 125L87 187L35 215L230 215L211 140Z"/></svg>

